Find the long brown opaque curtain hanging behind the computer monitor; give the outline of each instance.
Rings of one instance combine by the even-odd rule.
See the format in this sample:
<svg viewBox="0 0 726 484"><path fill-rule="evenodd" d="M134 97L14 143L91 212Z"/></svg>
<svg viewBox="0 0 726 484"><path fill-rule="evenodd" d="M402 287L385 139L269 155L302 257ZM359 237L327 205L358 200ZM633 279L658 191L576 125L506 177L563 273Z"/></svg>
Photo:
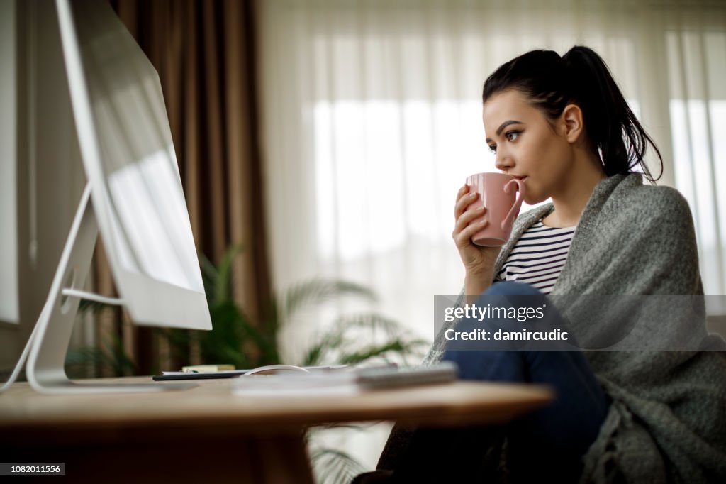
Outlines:
<svg viewBox="0 0 726 484"><path fill-rule="evenodd" d="M234 265L234 295L259 323L271 285L258 146L254 1L110 3L158 70L197 249L217 262L232 244L242 246ZM104 291L110 273L102 258L97 267L98 289ZM113 332L111 323L100 324L100 334ZM160 350L150 333L128 321L117 328L139 371L155 369L149 368L150 353Z"/></svg>

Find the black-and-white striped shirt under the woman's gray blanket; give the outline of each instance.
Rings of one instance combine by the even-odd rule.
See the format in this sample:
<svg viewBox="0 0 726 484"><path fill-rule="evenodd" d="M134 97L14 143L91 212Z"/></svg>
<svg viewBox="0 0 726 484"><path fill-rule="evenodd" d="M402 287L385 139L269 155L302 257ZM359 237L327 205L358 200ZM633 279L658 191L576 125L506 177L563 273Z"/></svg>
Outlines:
<svg viewBox="0 0 726 484"><path fill-rule="evenodd" d="M519 281L550 294L570 251L576 227L547 227L539 220L525 230L496 281Z"/></svg>

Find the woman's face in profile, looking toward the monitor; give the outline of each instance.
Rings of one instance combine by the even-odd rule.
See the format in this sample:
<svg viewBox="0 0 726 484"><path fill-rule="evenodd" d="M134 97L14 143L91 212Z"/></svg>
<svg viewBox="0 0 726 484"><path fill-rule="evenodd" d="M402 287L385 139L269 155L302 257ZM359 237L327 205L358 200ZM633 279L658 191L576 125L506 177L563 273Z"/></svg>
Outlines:
<svg viewBox="0 0 726 484"><path fill-rule="evenodd" d="M574 161L562 121L549 121L515 89L484 103L486 144L497 169L525 179L527 203L539 203L564 190Z"/></svg>

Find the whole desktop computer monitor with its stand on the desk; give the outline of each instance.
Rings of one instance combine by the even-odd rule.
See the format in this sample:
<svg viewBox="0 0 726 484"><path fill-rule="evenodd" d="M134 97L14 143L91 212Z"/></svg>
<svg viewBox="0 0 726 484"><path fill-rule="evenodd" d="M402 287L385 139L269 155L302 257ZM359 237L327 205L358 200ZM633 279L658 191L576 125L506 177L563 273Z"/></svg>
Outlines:
<svg viewBox="0 0 726 484"><path fill-rule="evenodd" d="M41 392L168 390L189 384L71 382L63 365L81 298L123 304L136 324L211 329L161 84L106 1L56 0L88 185L31 342ZM119 299L86 294L100 233Z"/></svg>

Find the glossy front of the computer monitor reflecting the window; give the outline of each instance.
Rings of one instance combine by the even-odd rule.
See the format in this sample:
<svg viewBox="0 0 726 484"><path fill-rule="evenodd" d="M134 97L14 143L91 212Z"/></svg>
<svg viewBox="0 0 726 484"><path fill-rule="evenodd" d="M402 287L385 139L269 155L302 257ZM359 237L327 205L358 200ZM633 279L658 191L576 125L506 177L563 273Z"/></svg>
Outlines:
<svg viewBox="0 0 726 484"><path fill-rule="evenodd" d="M158 73L107 2L70 5L71 101L118 291L136 323L211 328Z"/></svg>

